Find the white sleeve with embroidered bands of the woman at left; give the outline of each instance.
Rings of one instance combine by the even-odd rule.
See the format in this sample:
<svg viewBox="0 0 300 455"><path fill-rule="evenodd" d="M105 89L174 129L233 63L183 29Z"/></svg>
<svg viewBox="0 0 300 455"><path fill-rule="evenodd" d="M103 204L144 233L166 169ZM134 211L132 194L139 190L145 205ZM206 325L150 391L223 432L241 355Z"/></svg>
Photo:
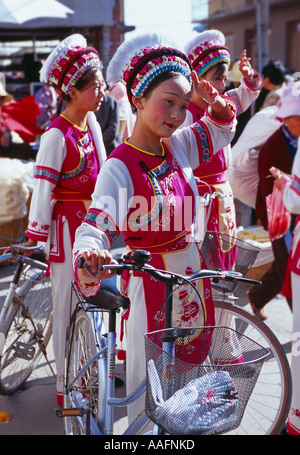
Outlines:
<svg viewBox="0 0 300 455"><path fill-rule="evenodd" d="M61 173L66 156L63 133L51 128L41 137L40 149L36 157L36 172L29 212L27 236L46 242L52 218L52 191Z"/></svg>

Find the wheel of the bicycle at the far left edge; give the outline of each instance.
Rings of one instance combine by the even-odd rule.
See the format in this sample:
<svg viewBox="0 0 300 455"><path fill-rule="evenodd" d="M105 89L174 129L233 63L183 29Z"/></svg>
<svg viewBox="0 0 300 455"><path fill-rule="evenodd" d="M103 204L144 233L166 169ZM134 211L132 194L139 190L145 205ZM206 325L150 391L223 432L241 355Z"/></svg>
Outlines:
<svg viewBox="0 0 300 455"><path fill-rule="evenodd" d="M16 392L32 373L51 338L52 315L50 279L35 272L14 296L5 323L0 394Z"/></svg>

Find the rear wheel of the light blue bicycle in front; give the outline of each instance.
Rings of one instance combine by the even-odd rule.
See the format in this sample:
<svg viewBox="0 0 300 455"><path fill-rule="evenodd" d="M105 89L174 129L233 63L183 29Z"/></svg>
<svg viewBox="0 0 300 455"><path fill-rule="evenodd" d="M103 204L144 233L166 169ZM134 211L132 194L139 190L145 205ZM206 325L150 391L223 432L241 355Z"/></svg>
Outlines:
<svg viewBox="0 0 300 455"><path fill-rule="evenodd" d="M68 435L100 434L106 399L106 355L97 355L106 344L101 335L102 324L97 311L75 310L71 317L64 408L80 409L81 412L64 418Z"/></svg>

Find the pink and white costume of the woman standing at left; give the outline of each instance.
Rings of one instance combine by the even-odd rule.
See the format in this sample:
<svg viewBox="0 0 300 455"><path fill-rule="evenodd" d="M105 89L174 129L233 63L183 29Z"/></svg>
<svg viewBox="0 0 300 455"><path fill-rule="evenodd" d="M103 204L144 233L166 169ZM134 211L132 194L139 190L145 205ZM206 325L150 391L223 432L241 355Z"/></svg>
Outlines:
<svg viewBox="0 0 300 455"><path fill-rule="evenodd" d="M94 113L88 114L86 130L58 116L43 134L36 158L27 237L47 242L49 252L58 398L62 398L63 391L65 330L74 281L72 246L105 158L102 134Z"/></svg>

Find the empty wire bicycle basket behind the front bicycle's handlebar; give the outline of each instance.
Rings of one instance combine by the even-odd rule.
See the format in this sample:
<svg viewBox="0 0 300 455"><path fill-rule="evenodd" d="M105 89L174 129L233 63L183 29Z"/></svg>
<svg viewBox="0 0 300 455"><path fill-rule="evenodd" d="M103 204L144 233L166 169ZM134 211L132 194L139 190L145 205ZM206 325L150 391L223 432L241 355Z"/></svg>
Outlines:
<svg viewBox="0 0 300 455"><path fill-rule="evenodd" d="M207 231L201 245L201 253L208 269L234 270L245 276L257 258L260 249L221 232ZM221 292L233 292L238 282L212 282Z"/></svg>

